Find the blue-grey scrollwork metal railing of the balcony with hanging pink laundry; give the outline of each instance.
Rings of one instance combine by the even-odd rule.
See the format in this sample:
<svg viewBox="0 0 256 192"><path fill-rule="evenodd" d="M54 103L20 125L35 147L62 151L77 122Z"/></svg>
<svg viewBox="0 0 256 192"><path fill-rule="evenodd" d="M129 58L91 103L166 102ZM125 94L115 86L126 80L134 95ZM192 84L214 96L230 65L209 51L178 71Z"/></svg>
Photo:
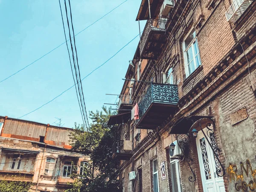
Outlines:
<svg viewBox="0 0 256 192"><path fill-rule="evenodd" d="M138 103L139 117L143 117L151 103L177 105L179 101L178 87L175 84L150 83ZM140 119L137 121L139 122Z"/></svg>

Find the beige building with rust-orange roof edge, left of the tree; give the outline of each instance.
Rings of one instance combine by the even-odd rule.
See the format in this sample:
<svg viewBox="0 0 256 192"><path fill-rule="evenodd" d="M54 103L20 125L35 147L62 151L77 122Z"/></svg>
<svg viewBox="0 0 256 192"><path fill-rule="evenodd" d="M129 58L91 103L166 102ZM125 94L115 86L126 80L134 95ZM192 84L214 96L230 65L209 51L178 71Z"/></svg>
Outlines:
<svg viewBox="0 0 256 192"><path fill-rule="evenodd" d="M31 192L63 192L90 157L72 152L71 128L0 116L0 180L32 182Z"/></svg>

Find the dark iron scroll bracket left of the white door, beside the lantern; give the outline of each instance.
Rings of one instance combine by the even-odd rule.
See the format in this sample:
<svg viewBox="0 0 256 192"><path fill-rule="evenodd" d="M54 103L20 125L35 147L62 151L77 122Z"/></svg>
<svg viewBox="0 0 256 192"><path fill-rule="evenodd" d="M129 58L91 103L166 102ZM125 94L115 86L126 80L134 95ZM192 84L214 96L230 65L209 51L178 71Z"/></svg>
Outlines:
<svg viewBox="0 0 256 192"><path fill-rule="evenodd" d="M179 134L180 135L180 134ZM189 134L186 134L187 137L184 137L182 140L178 140L179 135L176 136L176 140L177 140L177 144L179 145L180 150L182 151L183 155L184 155L184 159L186 160L186 162L189 165L189 169L191 170L193 176L189 176L189 181L190 182L194 182L195 181L195 173L192 169L192 164L193 164L193 159L189 154ZM182 142L182 144L180 145L180 142Z"/></svg>

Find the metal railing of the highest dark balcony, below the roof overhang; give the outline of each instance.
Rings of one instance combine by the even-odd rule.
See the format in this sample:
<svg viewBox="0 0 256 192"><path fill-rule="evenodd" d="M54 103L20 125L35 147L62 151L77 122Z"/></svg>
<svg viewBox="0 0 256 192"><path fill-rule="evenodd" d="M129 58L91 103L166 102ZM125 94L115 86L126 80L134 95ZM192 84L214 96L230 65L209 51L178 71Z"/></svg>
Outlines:
<svg viewBox="0 0 256 192"><path fill-rule="evenodd" d="M167 20L159 20L159 19L149 19L146 23L146 26L143 30L143 34L141 35L140 40L140 55L144 50L145 44L148 41L148 35L150 32L166 32L166 22Z"/></svg>

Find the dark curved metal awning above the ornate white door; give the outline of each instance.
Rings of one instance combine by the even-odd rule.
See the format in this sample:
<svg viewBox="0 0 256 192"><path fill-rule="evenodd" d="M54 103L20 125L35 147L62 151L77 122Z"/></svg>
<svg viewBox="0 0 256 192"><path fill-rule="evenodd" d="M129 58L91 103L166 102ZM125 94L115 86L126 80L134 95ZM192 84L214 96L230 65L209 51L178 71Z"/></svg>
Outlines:
<svg viewBox="0 0 256 192"><path fill-rule="evenodd" d="M212 118L213 116L186 116L178 119L169 134L187 134L192 125L199 119Z"/></svg>

